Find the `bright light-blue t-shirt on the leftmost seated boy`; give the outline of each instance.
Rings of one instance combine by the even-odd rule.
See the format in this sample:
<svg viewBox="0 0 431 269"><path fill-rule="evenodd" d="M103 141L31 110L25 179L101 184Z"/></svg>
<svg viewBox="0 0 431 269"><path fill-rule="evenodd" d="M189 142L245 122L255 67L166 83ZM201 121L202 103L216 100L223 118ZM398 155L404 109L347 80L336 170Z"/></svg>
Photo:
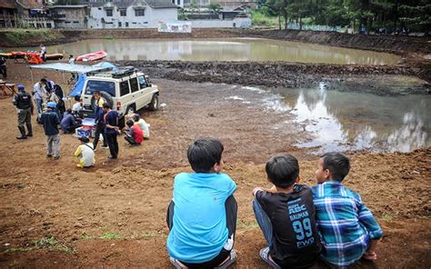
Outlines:
<svg viewBox="0 0 431 269"><path fill-rule="evenodd" d="M227 174L177 174L169 254L190 264L215 258L227 241L225 203L235 191L236 184Z"/></svg>

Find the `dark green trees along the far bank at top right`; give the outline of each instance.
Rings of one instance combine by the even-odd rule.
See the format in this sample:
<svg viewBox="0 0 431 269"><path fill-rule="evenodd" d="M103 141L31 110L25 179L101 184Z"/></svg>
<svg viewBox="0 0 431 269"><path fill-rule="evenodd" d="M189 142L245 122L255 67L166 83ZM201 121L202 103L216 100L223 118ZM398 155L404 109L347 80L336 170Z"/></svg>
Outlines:
<svg viewBox="0 0 431 269"><path fill-rule="evenodd" d="M262 15L284 18L287 24L328 25L351 27L354 30L377 32L385 28L385 34L397 29L429 34L431 5L428 0L259 0L259 11L253 21L261 25ZM266 19L266 22L270 22ZM281 25L287 24L279 24ZM399 34L403 34L400 30Z"/></svg>

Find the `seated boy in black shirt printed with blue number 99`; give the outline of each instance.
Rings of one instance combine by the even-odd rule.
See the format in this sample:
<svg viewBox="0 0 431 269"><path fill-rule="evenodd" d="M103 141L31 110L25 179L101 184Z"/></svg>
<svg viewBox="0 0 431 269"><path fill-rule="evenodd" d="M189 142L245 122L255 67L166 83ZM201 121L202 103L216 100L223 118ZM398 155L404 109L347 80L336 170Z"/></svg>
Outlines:
<svg viewBox="0 0 431 269"><path fill-rule="evenodd" d="M260 257L272 268L313 266L321 251L311 189L298 184L299 164L290 154L266 163L271 189L255 188L253 209L268 246Z"/></svg>

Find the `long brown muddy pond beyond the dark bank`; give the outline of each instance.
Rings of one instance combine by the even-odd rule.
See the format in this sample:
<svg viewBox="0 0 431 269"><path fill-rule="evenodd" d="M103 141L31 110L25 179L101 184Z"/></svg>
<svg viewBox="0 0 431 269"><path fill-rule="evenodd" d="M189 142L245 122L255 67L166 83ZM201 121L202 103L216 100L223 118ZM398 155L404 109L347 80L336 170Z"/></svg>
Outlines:
<svg viewBox="0 0 431 269"><path fill-rule="evenodd" d="M88 39L47 48L84 55L105 51L106 60L286 61L338 65L396 65L397 55L261 38Z"/></svg>

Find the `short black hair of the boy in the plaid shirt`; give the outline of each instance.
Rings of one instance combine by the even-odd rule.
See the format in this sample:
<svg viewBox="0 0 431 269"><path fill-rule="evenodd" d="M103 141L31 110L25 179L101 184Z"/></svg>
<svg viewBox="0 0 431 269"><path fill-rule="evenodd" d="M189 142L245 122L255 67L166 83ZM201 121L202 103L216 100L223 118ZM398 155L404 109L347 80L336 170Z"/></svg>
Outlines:
<svg viewBox="0 0 431 269"><path fill-rule="evenodd" d="M323 154L323 168L329 170L332 174L332 179L337 181L343 181L346 175L350 171L350 161L344 155L340 153L327 153Z"/></svg>

